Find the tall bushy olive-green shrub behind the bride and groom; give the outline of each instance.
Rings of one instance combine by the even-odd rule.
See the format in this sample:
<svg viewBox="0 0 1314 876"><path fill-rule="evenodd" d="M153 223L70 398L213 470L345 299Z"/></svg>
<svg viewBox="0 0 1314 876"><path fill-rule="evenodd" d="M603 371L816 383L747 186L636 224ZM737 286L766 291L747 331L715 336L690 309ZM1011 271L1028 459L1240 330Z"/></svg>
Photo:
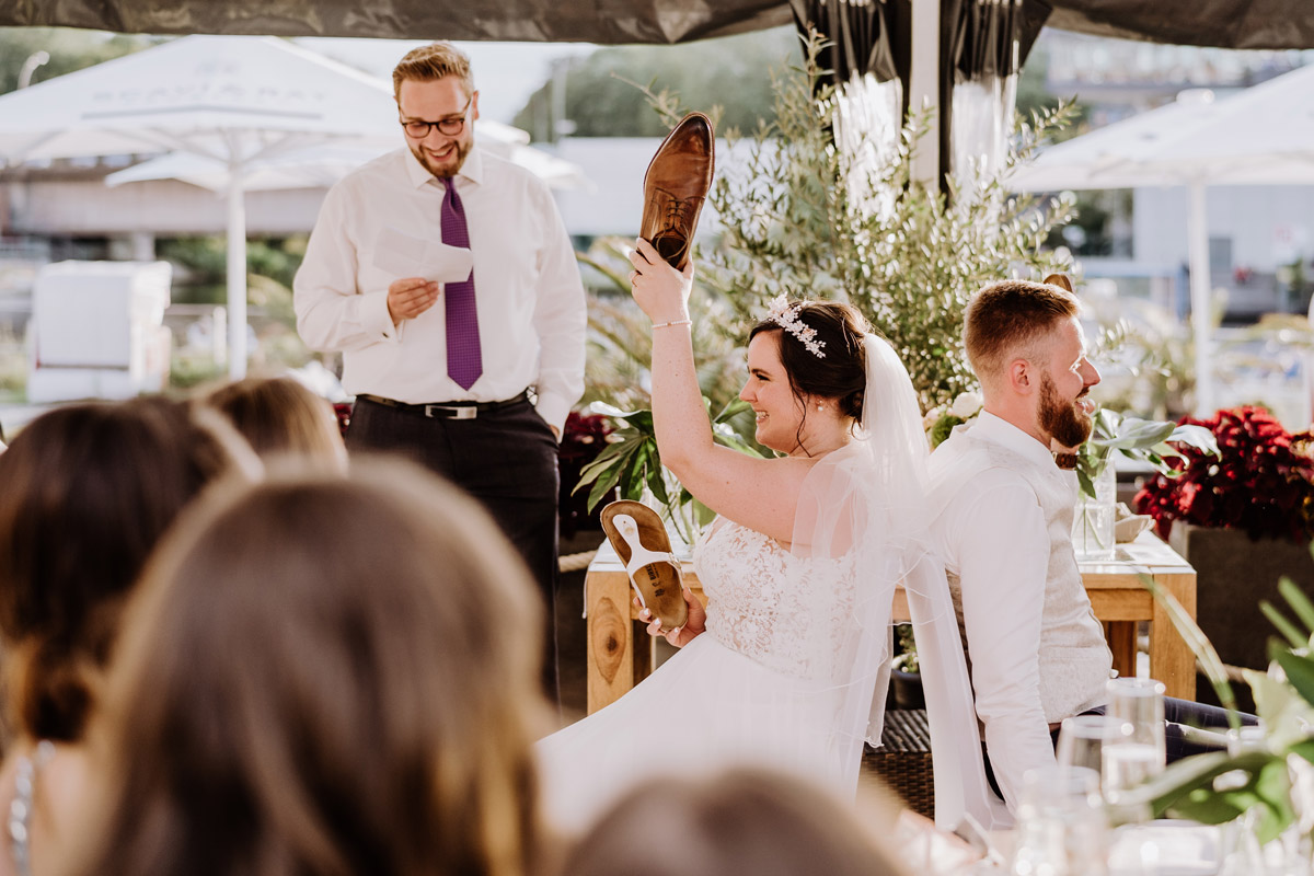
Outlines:
<svg viewBox="0 0 1314 876"><path fill-rule="evenodd" d="M759 125L708 196L723 226L703 253L704 282L727 297L741 330L779 294L848 301L899 352L924 407L974 389L959 340L963 307L1005 277L1071 272L1062 250L1043 250L1050 230L1072 218L1071 198L1005 192L1004 180L1037 144L1067 123L1067 105L1020 123L1003 169L974 193L916 181L912 156L924 118L904 125L890 162L851 180L833 139L834 89L824 83L812 34L804 63L773 74L774 120ZM884 209L850 206L850 186L878 194Z"/></svg>

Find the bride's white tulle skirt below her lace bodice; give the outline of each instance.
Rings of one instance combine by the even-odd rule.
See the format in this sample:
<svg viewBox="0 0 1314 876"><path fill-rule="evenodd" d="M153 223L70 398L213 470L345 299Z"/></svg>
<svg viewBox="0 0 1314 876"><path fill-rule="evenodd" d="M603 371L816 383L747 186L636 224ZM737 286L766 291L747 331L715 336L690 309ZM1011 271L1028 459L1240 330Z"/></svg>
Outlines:
<svg viewBox="0 0 1314 876"><path fill-rule="evenodd" d="M733 766L784 770L851 797L861 755L836 733L840 699L829 683L777 672L704 633L618 701L537 743L543 814L579 833L648 780Z"/></svg>

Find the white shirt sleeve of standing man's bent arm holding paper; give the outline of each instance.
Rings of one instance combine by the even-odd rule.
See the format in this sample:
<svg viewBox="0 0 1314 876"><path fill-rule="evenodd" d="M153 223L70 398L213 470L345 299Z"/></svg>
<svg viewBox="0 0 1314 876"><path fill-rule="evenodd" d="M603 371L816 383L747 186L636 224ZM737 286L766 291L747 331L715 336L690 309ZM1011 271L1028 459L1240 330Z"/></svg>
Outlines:
<svg viewBox="0 0 1314 876"><path fill-rule="evenodd" d="M306 256L292 281L297 332L325 353L397 343L388 314L388 289L357 289L357 251L350 218L351 196L343 185L328 190L310 232Z"/></svg>

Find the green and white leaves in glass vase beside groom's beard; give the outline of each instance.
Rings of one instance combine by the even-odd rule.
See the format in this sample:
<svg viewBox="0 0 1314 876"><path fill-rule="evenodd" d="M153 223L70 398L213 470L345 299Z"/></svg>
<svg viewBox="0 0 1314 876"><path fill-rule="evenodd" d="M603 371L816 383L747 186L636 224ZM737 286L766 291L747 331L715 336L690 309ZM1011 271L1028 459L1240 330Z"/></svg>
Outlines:
<svg viewBox="0 0 1314 876"><path fill-rule="evenodd" d="M1171 422L1144 420L1101 407L1095 414L1091 437L1077 453L1076 478L1081 493L1095 498L1095 481L1104 473L1114 452L1129 460L1148 462L1164 477L1176 471L1173 461L1181 452L1173 447L1184 444L1201 454L1218 456L1218 443L1213 432L1201 426L1179 426Z"/></svg>

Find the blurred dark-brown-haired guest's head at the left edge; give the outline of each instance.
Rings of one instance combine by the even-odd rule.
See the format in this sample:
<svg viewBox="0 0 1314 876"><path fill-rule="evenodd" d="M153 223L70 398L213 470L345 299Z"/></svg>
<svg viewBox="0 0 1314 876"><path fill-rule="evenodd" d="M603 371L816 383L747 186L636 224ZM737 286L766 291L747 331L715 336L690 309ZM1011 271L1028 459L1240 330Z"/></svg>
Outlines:
<svg viewBox="0 0 1314 876"><path fill-rule="evenodd" d="M226 432L226 435L223 433ZM74 405L0 456L0 640L11 730L81 737L121 605L179 511L250 449L164 398Z"/></svg>

